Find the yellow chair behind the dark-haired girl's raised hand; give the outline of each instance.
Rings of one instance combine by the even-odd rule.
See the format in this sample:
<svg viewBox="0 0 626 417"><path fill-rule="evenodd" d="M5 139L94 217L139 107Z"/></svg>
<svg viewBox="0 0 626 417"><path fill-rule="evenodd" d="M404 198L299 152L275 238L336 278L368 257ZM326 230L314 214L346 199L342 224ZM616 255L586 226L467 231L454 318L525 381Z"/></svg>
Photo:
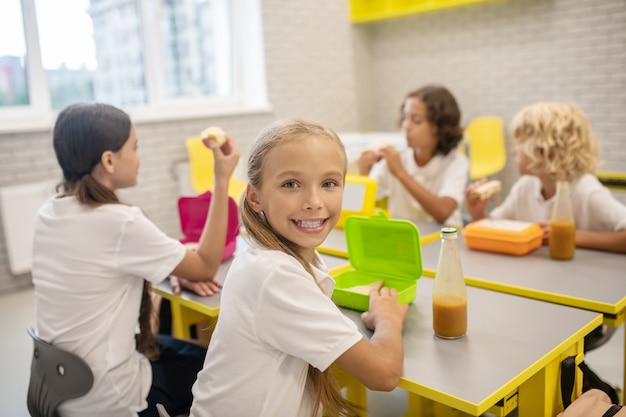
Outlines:
<svg viewBox="0 0 626 417"><path fill-rule="evenodd" d="M198 194L213 191L213 152L204 146L199 136L192 136L186 140L187 153L189 155L189 169L191 173L191 185ZM248 183L238 178L231 177L228 184L228 195L239 204L241 194L245 191Z"/></svg>

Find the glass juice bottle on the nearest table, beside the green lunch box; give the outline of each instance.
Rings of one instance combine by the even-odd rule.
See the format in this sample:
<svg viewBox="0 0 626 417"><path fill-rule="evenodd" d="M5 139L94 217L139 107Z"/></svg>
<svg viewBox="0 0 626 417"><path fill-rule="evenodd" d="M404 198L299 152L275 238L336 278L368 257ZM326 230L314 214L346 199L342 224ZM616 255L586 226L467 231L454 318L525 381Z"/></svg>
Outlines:
<svg viewBox="0 0 626 417"><path fill-rule="evenodd" d="M457 230L441 229L441 249L433 285L433 330L444 339L467 332L467 289L457 248Z"/></svg>

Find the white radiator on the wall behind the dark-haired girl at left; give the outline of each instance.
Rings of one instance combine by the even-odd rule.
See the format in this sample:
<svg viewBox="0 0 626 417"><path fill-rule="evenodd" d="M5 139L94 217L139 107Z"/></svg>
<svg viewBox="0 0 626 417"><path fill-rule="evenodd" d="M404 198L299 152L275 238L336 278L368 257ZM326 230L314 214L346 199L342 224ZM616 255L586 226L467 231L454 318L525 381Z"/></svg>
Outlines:
<svg viewBox="0 0 626 417"><path fill-rule="evenodd" d="M13 275L30 272L33 220L56 183L43 181L0 188L0 213L9 269Z"/></svg>

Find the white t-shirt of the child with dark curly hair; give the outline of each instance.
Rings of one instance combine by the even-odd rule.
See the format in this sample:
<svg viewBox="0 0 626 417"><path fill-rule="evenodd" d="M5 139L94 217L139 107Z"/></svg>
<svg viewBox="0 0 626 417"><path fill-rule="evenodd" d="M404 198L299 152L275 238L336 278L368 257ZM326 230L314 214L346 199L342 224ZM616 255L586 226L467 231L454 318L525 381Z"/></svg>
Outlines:
<svg viewBox="0 0 626 417"><path fill-rule="evenodd" d="M465 155L456 150L448 155L435 155L422 167L417 165L412 148L400 151L402 166L415 181L439 197L450 197L456 201L456 210L444 222L447 226L460 226L461 208L465 201L465 188L468 181L469 162ZM428 221L434 223L433 217L428 214L422 205L411 193L394 177L387 161L381 160L372 167L370 177L378 182L377 199L388 197L387 209L391 217L414 221Z"/></svg>

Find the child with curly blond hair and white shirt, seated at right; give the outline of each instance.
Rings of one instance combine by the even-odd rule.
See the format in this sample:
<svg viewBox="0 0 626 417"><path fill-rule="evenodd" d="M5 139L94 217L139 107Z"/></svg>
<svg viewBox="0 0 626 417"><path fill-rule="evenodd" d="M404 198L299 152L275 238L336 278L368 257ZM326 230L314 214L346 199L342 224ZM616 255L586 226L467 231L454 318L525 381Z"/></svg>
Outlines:
<svg viewBox="0 0 626 417"><path fill-rule="evenodd" d="M540 102L523 108L511 123L513 155L521 177L504 202L489 217L540 223L549 240L547 223L555 201L557 181L570 184L576 223L576 246L626 253L626 206L596 178L598 143L591 124L577 106ZM487 201L466 191L473 220L486 217Z"/></svg>

